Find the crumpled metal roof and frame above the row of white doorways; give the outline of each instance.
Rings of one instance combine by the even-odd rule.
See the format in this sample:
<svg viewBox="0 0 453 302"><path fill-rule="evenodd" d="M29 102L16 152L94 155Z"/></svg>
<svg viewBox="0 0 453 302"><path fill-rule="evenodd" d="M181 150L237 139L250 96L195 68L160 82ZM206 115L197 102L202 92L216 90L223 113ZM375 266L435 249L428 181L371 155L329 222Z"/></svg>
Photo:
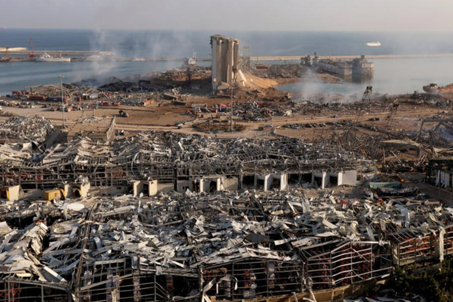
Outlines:
<svg viewBox="0 0 453 302"><path fill-rule="evenodd" d="M213 139L148 132L110 143L77 138L46 149L39 158L28 152L28 159L13 164L11 152L0 154L4 184L55 187L82 175L95 186L120 186L131 179L174 183L208 175L241 179L260 173L375 170L374 162L327 142L290 138Z"/></svg>

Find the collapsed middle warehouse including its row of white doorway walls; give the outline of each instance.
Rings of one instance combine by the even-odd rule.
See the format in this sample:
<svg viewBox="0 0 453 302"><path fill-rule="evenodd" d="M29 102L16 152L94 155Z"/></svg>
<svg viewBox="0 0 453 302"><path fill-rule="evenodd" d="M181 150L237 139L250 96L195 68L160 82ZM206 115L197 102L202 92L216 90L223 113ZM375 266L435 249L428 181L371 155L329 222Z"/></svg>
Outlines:
<svg viewBox="0 0 453 302"><path fill-rule="evenodd" d="M376 172L373 161L326 142L297 139L213 139L172 132L147 132L111 142L88 137L56 144L40 154L0 146L0 179L10 200L42 198L64 189L86 197L175 190L283 190L308 183L326 188L354 185ZM17 188L18 196L11 193ZM15 195L15 196L13 196Z"/></svg>

